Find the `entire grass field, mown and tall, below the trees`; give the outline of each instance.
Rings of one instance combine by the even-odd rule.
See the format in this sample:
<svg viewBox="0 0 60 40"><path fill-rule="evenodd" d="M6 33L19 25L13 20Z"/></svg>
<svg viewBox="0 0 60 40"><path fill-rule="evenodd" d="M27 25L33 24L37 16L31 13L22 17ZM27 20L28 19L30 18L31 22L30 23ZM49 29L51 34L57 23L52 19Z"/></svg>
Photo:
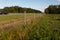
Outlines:
<svg viewBox="0 0 60 40"><path fill-rule="evenodd" d="M26 24L24 18L0 15L0 40L60 40L60 14L27 14Z"/></svg>

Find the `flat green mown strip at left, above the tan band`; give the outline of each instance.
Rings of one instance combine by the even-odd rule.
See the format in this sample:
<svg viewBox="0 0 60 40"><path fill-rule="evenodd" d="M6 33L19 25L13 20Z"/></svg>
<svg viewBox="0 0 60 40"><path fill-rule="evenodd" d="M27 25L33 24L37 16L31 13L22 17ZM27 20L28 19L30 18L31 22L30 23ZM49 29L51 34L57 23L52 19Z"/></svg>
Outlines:
<svg viewBox="0 0 60 40"><path fill-rule="evenodd" d="M38 14L37 14L38 15ZM34 14L32 13L26 13L26 16L34 16ZM17 13L17 14L14 14L14 13L10 13L10 14L7 14L7 15L0 15L0 22L1 21L8 21L8 20L15 20L15 19L20 19L20 18L24 18L25 17L25 14L24 13Z"/></svg>

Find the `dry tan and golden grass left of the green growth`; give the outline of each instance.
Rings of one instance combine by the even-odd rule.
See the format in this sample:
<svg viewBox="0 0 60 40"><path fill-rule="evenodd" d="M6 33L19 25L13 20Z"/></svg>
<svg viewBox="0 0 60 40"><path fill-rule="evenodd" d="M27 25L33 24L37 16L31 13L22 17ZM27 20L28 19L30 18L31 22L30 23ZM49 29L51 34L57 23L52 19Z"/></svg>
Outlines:
<svg viewBox="0 0 60 40"><path fill-rule="evenodd" d="M18 16L18 17L17 17ZM24 15L20 17L20 15L16 14L11 18L11 15L8 16L11 19L7 18L5 21L0 22L0 40L25 40L28 36L28 32L37 24L37 20L41 18L42 14L27 14L26 16L26 24L24 24ZM17 18L15 18L17 17Z"/></svg>

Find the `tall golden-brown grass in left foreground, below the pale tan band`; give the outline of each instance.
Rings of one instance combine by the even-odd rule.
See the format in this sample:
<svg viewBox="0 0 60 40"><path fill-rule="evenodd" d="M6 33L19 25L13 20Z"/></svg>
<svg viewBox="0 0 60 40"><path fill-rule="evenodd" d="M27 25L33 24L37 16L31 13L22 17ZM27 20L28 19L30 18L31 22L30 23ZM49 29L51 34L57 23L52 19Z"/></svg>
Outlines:
<svg viewBox="0 0 60 40"><path fill-rule="evenodd" d="M27 17L29 17L29 16L33 17L32 14L31 15L27 14ZM27 21L26 25L23 22L22 24L3 27L3 29L0 28L0 40L25 40L28 32L37 23L38 18L36 18L36 19L33 19L33 18L31 20Z"/></svg>

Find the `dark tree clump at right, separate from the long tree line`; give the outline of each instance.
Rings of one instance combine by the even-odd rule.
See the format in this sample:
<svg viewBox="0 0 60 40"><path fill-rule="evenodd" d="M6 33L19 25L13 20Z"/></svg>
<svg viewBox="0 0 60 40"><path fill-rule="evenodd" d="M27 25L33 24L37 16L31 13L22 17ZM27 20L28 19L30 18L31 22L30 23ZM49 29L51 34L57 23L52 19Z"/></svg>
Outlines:
<svg viewBox="0 0 60 40"><path fill-rule="evenodd" d="M50 5L45 9L45 13L49 14L60 14L60 5Z"/></svg>

